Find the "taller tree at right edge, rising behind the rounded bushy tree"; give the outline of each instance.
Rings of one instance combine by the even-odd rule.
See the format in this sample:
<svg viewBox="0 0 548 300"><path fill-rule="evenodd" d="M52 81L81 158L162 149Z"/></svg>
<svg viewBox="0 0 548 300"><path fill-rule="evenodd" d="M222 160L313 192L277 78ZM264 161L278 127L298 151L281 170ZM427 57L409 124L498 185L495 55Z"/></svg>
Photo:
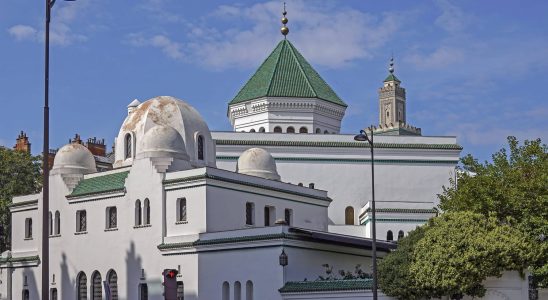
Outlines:
<svg viewBox="0 0 548 300"><path fill-rule="evenodd" d="M536 242L530 251L541 254L533 272L548 286L548 147L540 139L520 145L515 137L508 137L508 144L509 153L501 149L492 162L465 156L461 162L466 172L444 188L440 208L494 216L528 234Z"/></svg>

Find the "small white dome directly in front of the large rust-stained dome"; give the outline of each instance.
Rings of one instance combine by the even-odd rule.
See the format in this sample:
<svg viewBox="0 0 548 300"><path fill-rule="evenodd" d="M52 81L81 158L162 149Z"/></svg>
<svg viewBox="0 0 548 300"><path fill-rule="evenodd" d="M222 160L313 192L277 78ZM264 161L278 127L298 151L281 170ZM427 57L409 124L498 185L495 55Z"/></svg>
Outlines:
<svg viewBox="0 0 548 300"><path fill-rule="evenodd" d="M189 160L183 137L170 126L156 125L143 136L143 157L173 157Z"/></svg>

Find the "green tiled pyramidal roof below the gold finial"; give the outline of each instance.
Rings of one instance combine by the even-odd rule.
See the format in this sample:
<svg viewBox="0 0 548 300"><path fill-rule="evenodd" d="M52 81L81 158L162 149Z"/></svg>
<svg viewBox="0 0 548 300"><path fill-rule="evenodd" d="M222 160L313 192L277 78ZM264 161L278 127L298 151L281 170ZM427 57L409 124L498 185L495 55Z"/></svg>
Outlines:
<svg viewBox="0 0 548 300"><path fill-rule="evenodd" d="M288 40L282 40L229 105L261 97L320 98L346 107Z"/></svg>

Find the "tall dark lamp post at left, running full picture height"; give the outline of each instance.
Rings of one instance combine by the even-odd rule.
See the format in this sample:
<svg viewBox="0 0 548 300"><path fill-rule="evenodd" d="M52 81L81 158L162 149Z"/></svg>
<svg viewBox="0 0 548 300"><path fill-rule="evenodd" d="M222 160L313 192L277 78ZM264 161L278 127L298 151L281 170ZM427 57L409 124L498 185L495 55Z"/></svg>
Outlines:
<svg viewBox="0 0 548 300"><path fill-rule="evenodd" d="M74 1L74 0L65 0ZM46 0L44 53L44 148L42 151L42 299L49 299L49 23L55 0Z"/></svg>

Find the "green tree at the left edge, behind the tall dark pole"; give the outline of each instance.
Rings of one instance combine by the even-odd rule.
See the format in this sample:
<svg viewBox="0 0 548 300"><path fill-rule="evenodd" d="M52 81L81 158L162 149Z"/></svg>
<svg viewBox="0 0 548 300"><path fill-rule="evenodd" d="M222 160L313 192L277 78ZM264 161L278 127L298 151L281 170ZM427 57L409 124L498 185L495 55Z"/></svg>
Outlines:
<svg viewBox="0 0 548 300"><path fill-rule="evenodd" d="M0 252L10 247L11 199L39 192L41 178L40 157L0 147Z"/></svg>

